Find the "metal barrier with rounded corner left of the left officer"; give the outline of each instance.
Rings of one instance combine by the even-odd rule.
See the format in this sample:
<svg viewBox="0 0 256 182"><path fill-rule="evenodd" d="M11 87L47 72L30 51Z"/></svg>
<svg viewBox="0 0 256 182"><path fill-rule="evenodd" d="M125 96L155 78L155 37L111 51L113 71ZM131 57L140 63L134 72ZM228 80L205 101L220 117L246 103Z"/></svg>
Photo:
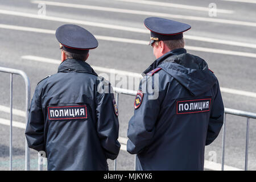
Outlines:
<svg viewBox="0 0 256 182"><path fill-rule="evenodd" d="M13 75L20 75L26 85L26 126L28 121L28 107L30 105L30 80L26 73L19 69L0 67L0 72L10 73L10 171L13 170ZM30 170L30 150L25 138L25 170Z"/></svg>

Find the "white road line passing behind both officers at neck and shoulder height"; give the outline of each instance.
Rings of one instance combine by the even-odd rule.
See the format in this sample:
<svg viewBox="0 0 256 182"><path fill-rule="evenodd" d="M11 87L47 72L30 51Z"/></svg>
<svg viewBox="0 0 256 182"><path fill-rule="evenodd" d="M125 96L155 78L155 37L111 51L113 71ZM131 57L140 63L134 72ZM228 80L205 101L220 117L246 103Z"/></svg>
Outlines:
<svg viewBox="0 0 256 182"><path fill-rule="evenodd" d="M49 59L49 58L46 58L46 57L25 55L25 56L22 56L21 58L26 59L26 60L32 60L32 61L39 61L39 62L42 62L42 63L51 63L51 64L57 64L57 65L60 64L59 60ZM118 74L118 75L125 75L125 76L142 78L142 75L139 74L139 73L126 72L126 71L122 71L122 70L118 70L118 69L109 69L109 68L95 67L95 66L92 66L92 68L95 71L99 71L99 72L115 73L115 74ZM240 96L256 98L256 93L254 93L254 92L247 92L247 91L243 91L243 90L229 89L229 88L223 88L223 87L221 87L220 89L221 89L221 92L224 92L224 93L231 93L231 94L236 94L236 95L240 95Z"/></svg>

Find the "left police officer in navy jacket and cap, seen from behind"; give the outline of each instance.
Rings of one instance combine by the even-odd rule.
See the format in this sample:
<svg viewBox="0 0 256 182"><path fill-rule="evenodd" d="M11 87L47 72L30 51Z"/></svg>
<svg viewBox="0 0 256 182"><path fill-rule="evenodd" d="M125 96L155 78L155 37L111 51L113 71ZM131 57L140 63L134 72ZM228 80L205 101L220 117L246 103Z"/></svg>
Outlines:
<svg viewBox="0 0 256 182"><path fill-rule="evenodd" d="M28 146L45 151L48 170L108 170L119 153L118 110L111 86L85 60L96 38L74 24L56 31L62 63L36 86Z"/></svg>

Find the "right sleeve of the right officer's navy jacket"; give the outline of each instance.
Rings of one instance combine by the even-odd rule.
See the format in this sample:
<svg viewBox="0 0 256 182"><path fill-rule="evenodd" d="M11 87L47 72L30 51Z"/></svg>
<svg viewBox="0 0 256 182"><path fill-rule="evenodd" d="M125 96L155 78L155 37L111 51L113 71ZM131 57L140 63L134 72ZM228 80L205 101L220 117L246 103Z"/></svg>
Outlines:
<svg viewBox="0 0 256 182"><path fill-rule="evenodd" d="M224 105L220 92L220 85L217 81L217 93L213 100L212 110L210 112L210 119L207 131L207 139L205 145L212 143L220 133L224 121Z"/></svg>

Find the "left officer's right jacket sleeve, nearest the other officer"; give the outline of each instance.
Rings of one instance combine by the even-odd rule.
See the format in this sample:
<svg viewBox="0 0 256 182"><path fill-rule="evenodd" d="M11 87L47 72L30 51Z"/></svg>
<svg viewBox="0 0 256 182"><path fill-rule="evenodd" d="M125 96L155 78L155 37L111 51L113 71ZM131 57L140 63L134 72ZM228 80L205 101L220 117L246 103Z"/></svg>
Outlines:
<svg viewBox="0 0 256 182"><path fill-rule="evenodd" d="M111 88L110 84L108 85ZM109 91L112 89L109 89ZM97 92L97 133L101 146L105 150L106 158L114 160L120 150L118 142L119 121L114 109L114 94L110 92Z"/></svg>

